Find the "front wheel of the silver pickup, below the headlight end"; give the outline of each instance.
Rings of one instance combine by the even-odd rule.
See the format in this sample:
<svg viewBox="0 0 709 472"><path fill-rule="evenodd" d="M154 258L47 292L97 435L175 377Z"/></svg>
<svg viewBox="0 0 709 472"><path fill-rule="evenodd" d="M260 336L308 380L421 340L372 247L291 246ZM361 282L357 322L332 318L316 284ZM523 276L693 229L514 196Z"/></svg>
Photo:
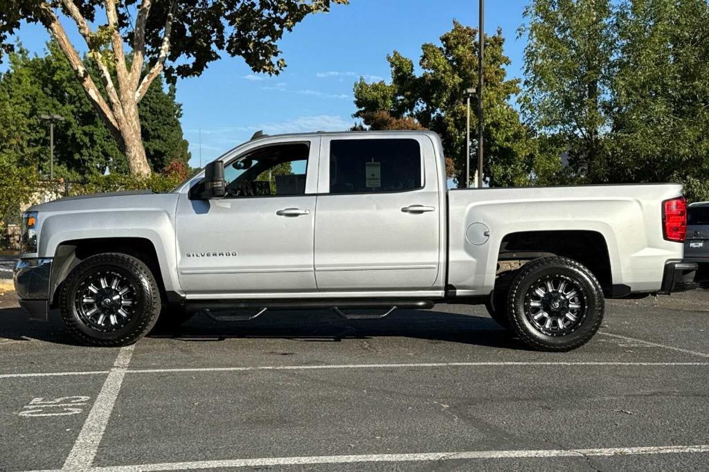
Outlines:
<svg viewBox="0 0 709 472"><path fill-rule="evenodd" d="M150 269L128 254L89 257L69 273L60 293L62 319L84 344L125 346L143 337L160 314Z"/></svg>

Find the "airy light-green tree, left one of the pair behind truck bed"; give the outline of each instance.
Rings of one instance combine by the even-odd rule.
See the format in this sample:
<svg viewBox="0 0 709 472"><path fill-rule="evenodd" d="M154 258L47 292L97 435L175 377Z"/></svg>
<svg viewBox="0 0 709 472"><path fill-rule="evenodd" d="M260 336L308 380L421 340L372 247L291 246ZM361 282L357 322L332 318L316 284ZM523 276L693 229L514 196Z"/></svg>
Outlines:
<svg viewBox="0 0 709 472"><path fill-rule="evenodd" d="M527 122L558 135L573 176L611 179L603 150L615 35L611 0L534 0L525 9L525 81L520 99Z"/></svg>

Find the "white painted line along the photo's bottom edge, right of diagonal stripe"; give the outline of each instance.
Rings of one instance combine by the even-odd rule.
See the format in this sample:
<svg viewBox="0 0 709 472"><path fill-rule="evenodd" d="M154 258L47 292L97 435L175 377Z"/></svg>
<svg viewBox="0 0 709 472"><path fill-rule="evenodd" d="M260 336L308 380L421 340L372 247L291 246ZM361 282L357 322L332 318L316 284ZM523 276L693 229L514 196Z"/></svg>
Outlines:
<svg viewBox="0 0 709 472"><path fill-rule="evenodd" d="M321 463L364 462L423 462L453 461L463 459L530 459L549 457L628 456L639 454L688 454L709 452L709 444L692 446L642 446L613 447L607 449L540 449L518 451L462 451L424 452L418 454L362 454L351 456L296 456L267 457L262 459L227 459L223 461L194 461L171 463L146 463L138 466L111 466L90 468L91 472L150 472L184 471L200 468L303 466Z"/></svg>

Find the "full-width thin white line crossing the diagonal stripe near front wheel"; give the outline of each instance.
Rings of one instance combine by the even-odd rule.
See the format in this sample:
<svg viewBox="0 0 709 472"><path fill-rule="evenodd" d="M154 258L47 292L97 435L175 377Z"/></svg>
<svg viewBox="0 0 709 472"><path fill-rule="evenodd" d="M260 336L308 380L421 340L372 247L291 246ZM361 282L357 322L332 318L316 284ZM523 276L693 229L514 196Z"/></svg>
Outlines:
<svg viewBox="0 0 709 472"><path fill-rule="evenodd" d="M303 371L318 369L406 369L425 367L495 367L495 366L620 366L620 367L706 367L709 362L426 362L418 364L340 364L320 366L246 366L187 367L175 369L125 369L125 373L233 372L233 371ZM92 376L110 371L3 373L2 378Z"/></svg>

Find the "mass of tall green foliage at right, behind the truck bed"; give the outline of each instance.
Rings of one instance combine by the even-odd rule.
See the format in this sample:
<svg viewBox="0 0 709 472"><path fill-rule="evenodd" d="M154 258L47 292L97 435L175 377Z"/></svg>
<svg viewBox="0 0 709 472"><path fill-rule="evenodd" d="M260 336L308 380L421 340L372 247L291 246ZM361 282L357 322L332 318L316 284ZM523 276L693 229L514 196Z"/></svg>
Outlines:
<svg viewBox="0 0 709 472"><path fill-rule="evenodd" d="M683 181L709 195L706 0L534 0L523 111L567 183Z"/></svg>

